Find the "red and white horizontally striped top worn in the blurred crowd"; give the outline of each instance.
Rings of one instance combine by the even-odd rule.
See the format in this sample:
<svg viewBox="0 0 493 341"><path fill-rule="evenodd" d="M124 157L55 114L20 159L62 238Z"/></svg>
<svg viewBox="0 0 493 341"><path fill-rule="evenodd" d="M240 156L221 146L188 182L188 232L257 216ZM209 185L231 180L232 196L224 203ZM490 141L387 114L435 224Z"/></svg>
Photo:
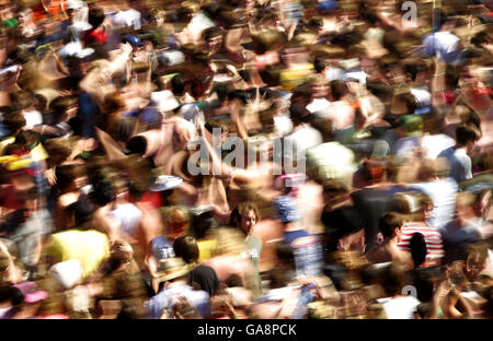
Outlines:
<svg viewBox="0 0 493 341"><path fill-rule="evenodd" d="M421 233L426 243L426 259L421 267L439 266L440 258L444 257L444 244L442 235L435 228L423 222L410 222L402 226L401 240L398 247L401 250L411 252L410 242L415 233Z"/></svg>

